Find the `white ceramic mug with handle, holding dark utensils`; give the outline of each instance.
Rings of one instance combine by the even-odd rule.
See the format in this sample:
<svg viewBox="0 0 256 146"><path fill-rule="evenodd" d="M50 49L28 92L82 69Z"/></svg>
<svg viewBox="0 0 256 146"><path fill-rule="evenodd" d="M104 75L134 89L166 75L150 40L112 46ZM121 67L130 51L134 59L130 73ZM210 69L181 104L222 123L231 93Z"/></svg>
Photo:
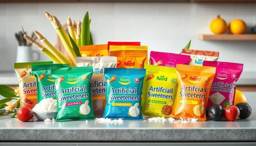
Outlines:
<svg viewBox="0 0 256 146"><path fill-rule="evenodd" d="M33 54L37 54L37 59L34 59ZM32 50L31 46L18 46L17 47L17 56L16 62L37 62L40 60L39 51Z"/></svg>

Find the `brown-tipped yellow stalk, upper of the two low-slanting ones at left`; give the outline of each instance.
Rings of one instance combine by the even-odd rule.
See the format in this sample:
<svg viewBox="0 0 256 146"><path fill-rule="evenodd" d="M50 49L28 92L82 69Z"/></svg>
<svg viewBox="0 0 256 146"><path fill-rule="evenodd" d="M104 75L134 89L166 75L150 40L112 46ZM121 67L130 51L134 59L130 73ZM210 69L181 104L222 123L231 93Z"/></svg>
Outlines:
<svg viewBox="0 0 256 146"><path fill-rule="evenodd" d="M42 34L40 34L38 31L34 31L37 38L45 45L48 50L58 58L58 60L62 64L69 64L70 67L74 67L73 63L64 56L59 50L57 50Z"/></svg>

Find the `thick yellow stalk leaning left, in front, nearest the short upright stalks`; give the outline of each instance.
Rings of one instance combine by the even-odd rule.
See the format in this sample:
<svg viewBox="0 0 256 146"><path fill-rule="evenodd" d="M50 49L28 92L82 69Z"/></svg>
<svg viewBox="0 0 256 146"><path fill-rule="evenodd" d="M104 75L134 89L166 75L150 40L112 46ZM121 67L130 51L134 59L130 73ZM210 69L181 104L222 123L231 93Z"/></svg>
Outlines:
<svg viewBox="0 0 256 146"><path fill-rule="evenodd" d="M55 24L55 28L56 28L57 34L59 35L60 40L61 40L65 50L68 53L69 58L71 59L73 65L76 66L76 53L73 50L73 48L70 45L70 43L68 42L68 39L65 36L65 32L61 29L61 25L60 25L58 19L55 16L53 16L53 22Z"/></svg>

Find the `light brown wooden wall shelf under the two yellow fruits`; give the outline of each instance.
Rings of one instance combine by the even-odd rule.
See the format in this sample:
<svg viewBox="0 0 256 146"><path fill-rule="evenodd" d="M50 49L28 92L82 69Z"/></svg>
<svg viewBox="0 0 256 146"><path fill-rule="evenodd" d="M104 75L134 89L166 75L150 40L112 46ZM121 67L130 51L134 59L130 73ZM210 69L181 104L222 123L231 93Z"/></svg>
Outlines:
<svg viewBox="0 0 256 146"><path fill-rule="evenodd" d="M243 35L212 35L212 34L198 34L200 40L212 40L212 41L256 41L256 34L243 34Z"/></svg>

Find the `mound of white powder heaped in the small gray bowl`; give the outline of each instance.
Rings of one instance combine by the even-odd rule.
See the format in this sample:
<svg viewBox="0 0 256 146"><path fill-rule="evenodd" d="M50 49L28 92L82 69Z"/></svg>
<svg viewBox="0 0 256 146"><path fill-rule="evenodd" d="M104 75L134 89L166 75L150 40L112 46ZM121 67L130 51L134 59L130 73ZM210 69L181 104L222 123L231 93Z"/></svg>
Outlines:
<svg viewBox="0 0 256 146"><path fill-rule="evenodd" d="M57 112L57 100L45 98L37 103L32 110L35 112Z"/></svg>

